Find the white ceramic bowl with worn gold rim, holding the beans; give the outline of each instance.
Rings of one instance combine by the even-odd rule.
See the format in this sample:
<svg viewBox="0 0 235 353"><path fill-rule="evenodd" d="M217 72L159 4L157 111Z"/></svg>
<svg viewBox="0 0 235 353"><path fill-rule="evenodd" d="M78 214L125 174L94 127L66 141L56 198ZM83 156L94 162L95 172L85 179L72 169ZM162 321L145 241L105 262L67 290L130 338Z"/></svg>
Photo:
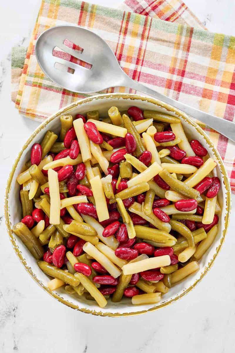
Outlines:
<svg viewBox="0 0 235 353"><path fill-rule="evenodd" d="M99 110L100 116L107 116L107 110L111 106L117 106L119 110L126 110L130 106L138 106L142 109L158 110L171 114L173 116L178 116L183 124L184 130L189 138L198 139L208 150L210 157L214 158L217 162L215 175L221 180L221 189L219 190L219 203L222 208L222 214L219 215L219 231L217 237L210 247L210 249L205 253L203 258L200 260L200 270L191 276L188 276L186 280L179 282L177 285L173 286L168 293L164 294L162 300L157 305L140 305L134 306L131 304L129 299L123 299L120 303L112 303L109 300L107 306L101 309L94 301L86 300L83 298L75 297L74 295L69 295L64 291L64 289L58 289L55 292L51 292L47 288L48 276L45 275L37 266L36 260L32 257L31 253L26 249L26 247L21 243L18 238L14 237L11 231L11 227L20 221L21 219L21 205L19 202L19 185L16 181L17 175L21 172L21 169L25 163L30 158L30 150L34 143L42 140L45 132L47 130L52 130L56 133L60 131L60 116L63 114L85 114L90 110ZM5 216L6 225L8 233L20 259L20 262L24 265L28 273L33 277L33 279L47 291L54 298L58 299L61 303L66 304L74 309L80 310L86 313L93 313L94 315L102 316L124 316L124 315L135 315L139 313L144 313L147 311L156 310L160 307L166 306L172 301L181 298L186 293L190 292L197 283L204 277L204 275L210 269L214 259L218 255L221 245L224 241L225 234L227 232L229 223L229 213L231 205L231 191L227 173L225 171L224 164L221 157L218 154L217 149L212 144L208 136L204 131L193 122L186 114L180 112L172 106L166 103L157 101L154 98L147 98L131 94L104 94L99 96L93 96L85 98L69 106L61 109L55 115L51 116L45 120L29 137L22 150L20 151L10 173L10 177L7 182L6 187L6 199L5 199Z"/></svg>

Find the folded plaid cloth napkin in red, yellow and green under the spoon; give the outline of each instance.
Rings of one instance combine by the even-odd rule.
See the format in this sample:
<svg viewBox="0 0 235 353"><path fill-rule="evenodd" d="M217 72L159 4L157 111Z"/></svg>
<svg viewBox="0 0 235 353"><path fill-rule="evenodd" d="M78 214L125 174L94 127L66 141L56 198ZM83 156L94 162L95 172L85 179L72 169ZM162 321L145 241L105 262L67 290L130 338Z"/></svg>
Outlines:
<svg viewBox="0 0 235 353"><path fill-rule="evenodd" d="M100 35L131 78L175 100L235 120L235 37L206 31L181 0L125 0L121 10L77 0L43 0L27 51L12 50L12 99L21 114L43 121L88 96L61 88L37 64L35 40L61 24L83 26ZM104 92L132 90L121 87L98 93ZM235 145L208 126L203 128L217 146L235 192Z"/></svg>

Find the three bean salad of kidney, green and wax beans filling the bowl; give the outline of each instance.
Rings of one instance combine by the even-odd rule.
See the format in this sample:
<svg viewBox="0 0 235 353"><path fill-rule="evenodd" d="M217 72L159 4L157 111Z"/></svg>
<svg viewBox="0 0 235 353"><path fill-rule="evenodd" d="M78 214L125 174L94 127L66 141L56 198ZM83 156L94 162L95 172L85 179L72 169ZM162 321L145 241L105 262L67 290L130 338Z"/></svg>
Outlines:
<svg viewBox="0 0 235 353"><path fill-rule="evenodd" d="M33 144L13 232L51 291L100 307L158 303L216 237L217 163L175 116L134 106L107 115L63 115L59 136Z"/></svg>

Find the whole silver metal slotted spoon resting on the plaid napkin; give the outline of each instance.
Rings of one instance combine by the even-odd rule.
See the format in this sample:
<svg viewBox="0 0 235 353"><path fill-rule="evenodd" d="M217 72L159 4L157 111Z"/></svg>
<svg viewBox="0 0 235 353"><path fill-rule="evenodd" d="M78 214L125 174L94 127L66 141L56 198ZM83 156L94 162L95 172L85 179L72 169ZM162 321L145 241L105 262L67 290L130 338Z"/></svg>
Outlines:
<svg viewBox="0 0 235 353"><path fill-rule="evenodd" d="M83 50L70 49L64 40L79 45ZM55 47L92 65L91 69L66 61L52 55ZM162 100L173 107L183 110L193 118L204 122L235 142L235 123L202 112L164 96L139 82L132 80L119 66L116 56L109 45L97 34L78 26L56 26L44 31L37 39L35 46L36 58L43 72L60 86L74 92L92 93L110 87L129 87L149 96ZM59 63L74 69L71 74L67 70L55 68Z"/></svg>

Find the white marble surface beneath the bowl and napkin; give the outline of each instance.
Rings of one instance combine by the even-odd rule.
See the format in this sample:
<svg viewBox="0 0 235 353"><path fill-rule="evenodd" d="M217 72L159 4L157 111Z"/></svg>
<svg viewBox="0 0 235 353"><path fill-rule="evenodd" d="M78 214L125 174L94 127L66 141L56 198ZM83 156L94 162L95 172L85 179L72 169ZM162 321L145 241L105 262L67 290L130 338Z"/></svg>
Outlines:
<svg viewBox="0 0 235 353"><path fill-rule="evenodd" d="M1 1L0 5L1 201L17 151L38 125L20 117L10 100L10 50L13 45L27 41L39 2L12 0ZM111 4L108 0L93 2ZM235 34L234 0L186 0L186 3L209 30ZM13 252L3 214L2 201L0 352L234 352L234 217L213 268L190 294L146 315L101 318L60 304L37 286Z"/></svg>

